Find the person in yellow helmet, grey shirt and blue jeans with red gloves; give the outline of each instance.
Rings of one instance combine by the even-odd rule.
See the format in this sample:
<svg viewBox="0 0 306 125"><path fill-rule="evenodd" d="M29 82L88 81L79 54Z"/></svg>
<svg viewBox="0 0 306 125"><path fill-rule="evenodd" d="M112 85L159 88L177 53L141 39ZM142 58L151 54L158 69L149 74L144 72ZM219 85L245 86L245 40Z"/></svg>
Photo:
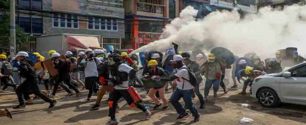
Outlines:
<svg viewBox="0 0 306 125"><path fill-rule="evenodd" d="M205 75L205 89L204 89L204 101L207 101L209 90L211 86L214 89L214 97L217 98L217 92L220 86L220 78L222 76L221 65L219 62L215 61L215 54L210 53L208 55L208 61L206 61L203 67L203 72L201 75Z"/></svg>

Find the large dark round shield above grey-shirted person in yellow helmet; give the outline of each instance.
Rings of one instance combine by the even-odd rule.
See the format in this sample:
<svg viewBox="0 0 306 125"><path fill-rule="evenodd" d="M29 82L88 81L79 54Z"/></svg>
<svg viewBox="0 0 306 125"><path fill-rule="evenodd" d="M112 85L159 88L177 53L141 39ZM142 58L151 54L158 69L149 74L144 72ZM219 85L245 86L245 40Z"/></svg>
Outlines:
<svg viewBox="0 0 306 125"><path fill-rule="evenodd" d="M225 59L228 66L235 62L234 54L224 47L215 47L210 51L210 53L214 53L216 60L218 61Z"/></svg>

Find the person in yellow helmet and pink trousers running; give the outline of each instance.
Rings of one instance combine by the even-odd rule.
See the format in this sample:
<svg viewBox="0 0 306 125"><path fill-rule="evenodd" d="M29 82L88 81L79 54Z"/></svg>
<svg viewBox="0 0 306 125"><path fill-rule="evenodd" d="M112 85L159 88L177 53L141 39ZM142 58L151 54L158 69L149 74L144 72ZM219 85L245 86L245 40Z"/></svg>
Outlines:
<svg viewBox="0 0 306 125"><path fill-rule="evenodd" d="M164 78L164 77L168 76L166 71L164 69L158 67L157 65L158 65L158 63L157 63L156 60L150 60L148 62L148 67L150 68L149 76L152 76L152 80L154 80L155 77L156 78ZM156 81L155 87L150 88L150 90L149 90L149 97L156 104L153 109L156 109L161 105L160 101L155 96L156 92L159 93L159 96L164 103L164 107L162 108L162 110L168 109L169 108L168 101L165 97L165 82Z"/></svg>

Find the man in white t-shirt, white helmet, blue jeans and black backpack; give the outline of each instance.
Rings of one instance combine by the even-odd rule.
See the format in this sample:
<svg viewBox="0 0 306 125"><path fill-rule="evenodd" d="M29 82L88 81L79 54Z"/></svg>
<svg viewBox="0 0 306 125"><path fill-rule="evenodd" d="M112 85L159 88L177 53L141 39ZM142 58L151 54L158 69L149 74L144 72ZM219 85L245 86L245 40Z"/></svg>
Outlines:
<svg viewBox="0 0 306 125"><path fill-rule="evenodd" d="M184 99L185 105L192 113L192 116L195 117L194 122L200 121L200 115L195 108L195 105L192 103L192 96L194 93L194 86L191 85L188 81L189 73L186 69L187 67L183 63L183 57L181 55L174 55L173 59L171 60L175 64L177 73L169 78L160 78L161 81L173 81L176 79L177 88L172 93L170 102L174 106L176 112L180 114L177 120L184 119L189 116L189 114L186 112L185 108L180 104L179 100L181 98Z"/></svg>

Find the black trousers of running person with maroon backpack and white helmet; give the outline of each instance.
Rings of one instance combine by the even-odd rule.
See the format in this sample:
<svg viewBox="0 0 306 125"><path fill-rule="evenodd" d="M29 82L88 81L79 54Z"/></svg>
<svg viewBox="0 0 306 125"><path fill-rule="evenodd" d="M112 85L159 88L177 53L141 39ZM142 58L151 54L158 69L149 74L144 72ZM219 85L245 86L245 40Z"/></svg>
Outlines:
<svg viewBox="0 0 306 125"><path fill-rule="evenodd" d="M56 91L57 91L57 88L58 88L58 85L61 83L61 82L65 82L66 85L70 88L72 88L76 93L79 93L80 91L77 90L77 88L73 85L71 85L71 82L70 82L70 75L69 74L60 74L60 77L59 79L56 80L56 82L54 83L54 88L53 88L53 92L52 92L52 95L55 95Z"/></svg>

